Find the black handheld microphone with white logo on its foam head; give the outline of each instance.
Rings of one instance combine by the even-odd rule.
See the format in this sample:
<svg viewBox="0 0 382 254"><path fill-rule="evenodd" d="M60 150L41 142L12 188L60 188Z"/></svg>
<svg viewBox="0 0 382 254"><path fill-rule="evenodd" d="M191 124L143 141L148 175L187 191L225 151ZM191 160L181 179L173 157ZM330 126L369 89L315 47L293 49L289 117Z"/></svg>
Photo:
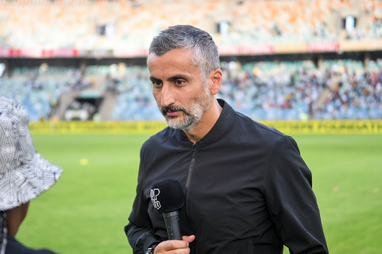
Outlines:
<svg viewBox="0 0 382 254"><path fill-rule="evenodd" d="M183 207L184 194L180 183L166 179L154 183L150 190L152 204L163 213L169 240L182 240L179 224L179 209Z"/></svg>

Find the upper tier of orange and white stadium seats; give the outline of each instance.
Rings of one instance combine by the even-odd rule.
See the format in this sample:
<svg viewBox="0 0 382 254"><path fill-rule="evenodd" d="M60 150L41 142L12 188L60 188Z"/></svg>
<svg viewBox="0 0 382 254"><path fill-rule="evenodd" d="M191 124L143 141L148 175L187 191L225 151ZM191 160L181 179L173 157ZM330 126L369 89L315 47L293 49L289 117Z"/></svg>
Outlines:
<svg viewBox="0 0 382 254"><path fill-rule="evenodd" d="M217 45L333 41L344 10L358 17L348 39L382 38L381 0L0 0L0 6L0 48L147 48L163 28L186 23L209 31ZM218 34L222 21L229 28Z"/></svg>

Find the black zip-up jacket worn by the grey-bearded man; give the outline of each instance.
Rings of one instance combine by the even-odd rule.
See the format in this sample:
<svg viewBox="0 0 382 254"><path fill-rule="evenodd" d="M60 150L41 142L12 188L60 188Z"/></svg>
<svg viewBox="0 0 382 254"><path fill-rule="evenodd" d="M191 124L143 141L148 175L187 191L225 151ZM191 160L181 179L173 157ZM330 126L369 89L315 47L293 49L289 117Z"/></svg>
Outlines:
<svg viewBox="0 0 382 254"><path fill-rule="evenodd" d="M184 188L179 211L183 235L196 236L191 253L328 253L312 176L296 142L276 129L223 111L193 144L166 128L141 148L141 163L127 238L135 253L167 239L150 188L174 178Z"/></svg>

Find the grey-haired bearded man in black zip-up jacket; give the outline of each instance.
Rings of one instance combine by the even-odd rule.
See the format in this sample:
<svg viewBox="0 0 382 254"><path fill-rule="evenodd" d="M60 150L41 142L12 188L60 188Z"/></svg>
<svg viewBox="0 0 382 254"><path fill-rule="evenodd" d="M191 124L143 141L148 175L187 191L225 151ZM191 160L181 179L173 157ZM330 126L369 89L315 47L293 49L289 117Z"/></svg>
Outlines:
<svg viewBox="0 0 382 254"><path fill-rule="evenodd" d="M141 148L137 196L125 233L138 253L328 253L309 168L289 136L216 99L222 85L211 36L161 31L147 66L169 127ZM151 186L176 179L183 240L168 240Z"/></svg>

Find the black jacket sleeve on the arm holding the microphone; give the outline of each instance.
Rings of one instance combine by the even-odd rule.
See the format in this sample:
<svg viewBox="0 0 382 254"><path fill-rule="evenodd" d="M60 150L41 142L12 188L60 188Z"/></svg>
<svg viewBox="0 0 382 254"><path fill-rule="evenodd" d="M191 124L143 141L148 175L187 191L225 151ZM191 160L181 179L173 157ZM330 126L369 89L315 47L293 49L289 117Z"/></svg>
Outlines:
<svg viewBox="0 0 382 254"><path fill-rule="evenodd" d="M132 210L129 216L129 223L125 226L127 239L133 249L134 254L144 254L148 247L152 244L160 242L159 238L154 234L150 216L147 212L148 203L144 195L143 187L143 150L141 148L141 162L138 173L137 195L135 196Z"/></svg>

